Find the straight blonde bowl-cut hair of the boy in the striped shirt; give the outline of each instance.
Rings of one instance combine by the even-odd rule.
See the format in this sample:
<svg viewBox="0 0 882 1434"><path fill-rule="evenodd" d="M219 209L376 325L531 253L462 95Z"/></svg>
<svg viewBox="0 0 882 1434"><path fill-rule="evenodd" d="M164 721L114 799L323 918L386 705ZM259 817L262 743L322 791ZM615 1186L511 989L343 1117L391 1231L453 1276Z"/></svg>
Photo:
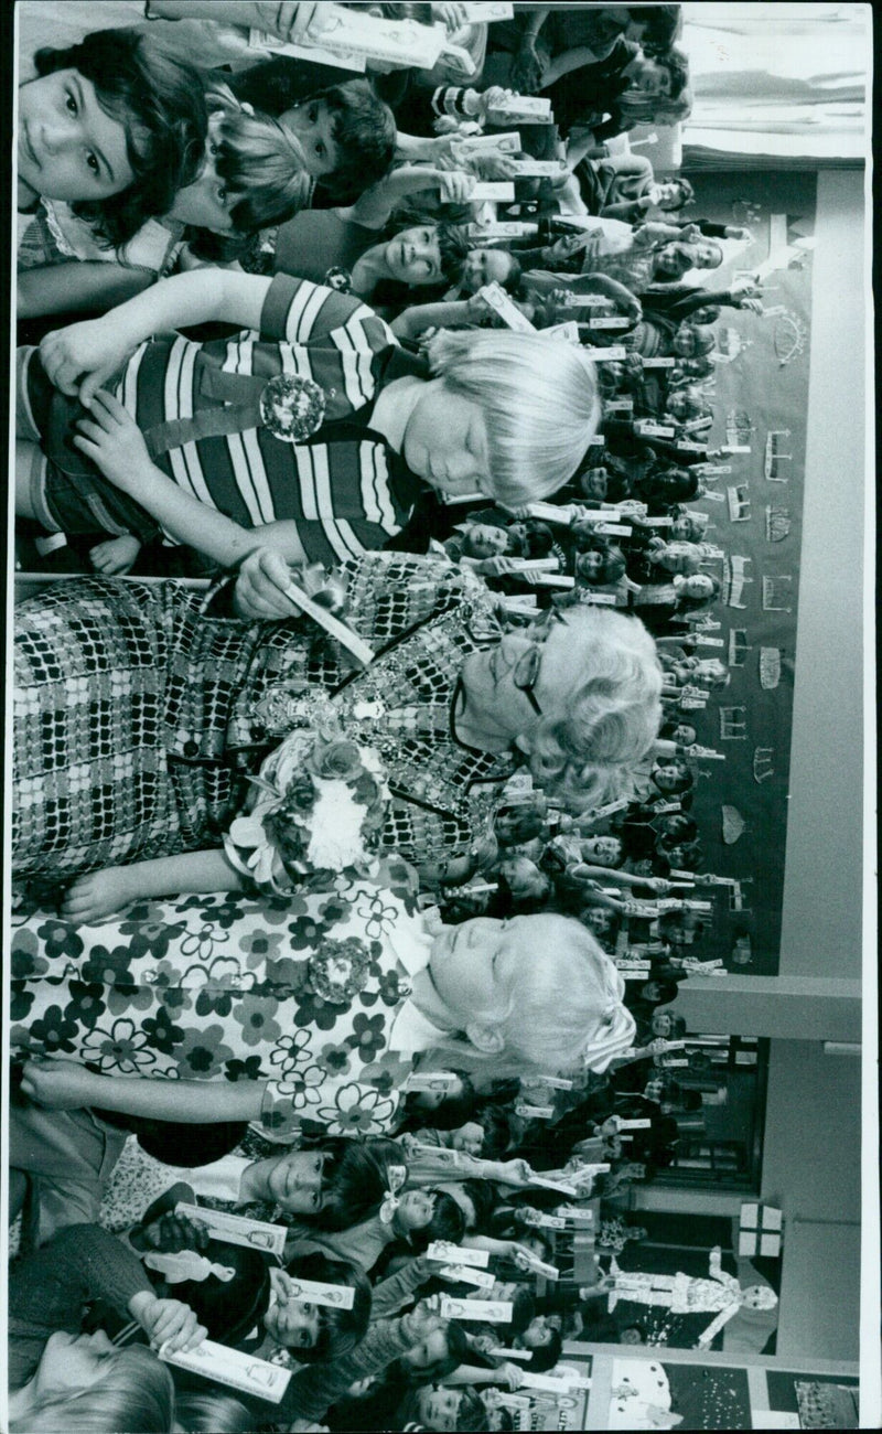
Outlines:
<svg viewBox="0 0 882 1434"><path fill-rule="evenodd" d="M430 340L429 361L452 391L480 404L488 496L528 503L572 478L601 420L597 370L578 344L445 328Z"/></svg>

